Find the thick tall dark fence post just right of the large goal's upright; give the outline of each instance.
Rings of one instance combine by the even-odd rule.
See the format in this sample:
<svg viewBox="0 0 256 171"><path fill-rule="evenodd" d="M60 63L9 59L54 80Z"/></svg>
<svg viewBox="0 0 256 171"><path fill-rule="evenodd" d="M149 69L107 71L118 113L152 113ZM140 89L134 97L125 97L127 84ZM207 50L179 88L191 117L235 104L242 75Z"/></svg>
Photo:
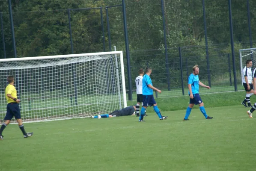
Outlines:
<svg viewBox="0 0 256 171"><path fill-rule="evenodd" d="M129 88L128 100L132 100L130 50L129 50L127 22L126 22L125 0L122 0L122 10L123 10L124 31L125 31L125 53L126 53L126 61L127 61L127 76L128 76L128 88Z"/></svg>

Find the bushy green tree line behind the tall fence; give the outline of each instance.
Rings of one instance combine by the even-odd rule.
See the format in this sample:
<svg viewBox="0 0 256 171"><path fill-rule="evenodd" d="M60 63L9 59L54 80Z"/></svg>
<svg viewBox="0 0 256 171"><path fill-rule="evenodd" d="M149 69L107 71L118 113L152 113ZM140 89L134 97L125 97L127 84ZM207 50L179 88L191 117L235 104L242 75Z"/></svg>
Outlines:
<svg viewBox="0 0 256 171"><path fill-rule="evenodd" d="M155 70L152 77L158 81L157 86L166 87L168 79L161 0L125 2L132 80L139 68L151 66ZM18 57L70 54L67 9L102 7L108 50L105 7L121 3L121 0L12 0ZM11 58L14 56L6 0L0 0L0 10L3 12L6 53ZM228 68L225 68L227 54L231 53L228 2L205 0L205 10L211 78L218 80L217 76L228 72ZM251 0L250 10L252 38L255 40L256 3ZM71 11L70 15L74 53L103 51L100 9ZM178 47L182 47L184 79L186 80L186 65L191 68L196 63L202 66L202 78L207 80L202 0L164 0L164 17L171 87L181 86ZM238 68L238 50L250 47L246 1L232 0L232 19ZM125 52L122 7L109 8L109 23L112 46L116 45L117 50ZM3 58L2 41L0 58Z"/></svg>

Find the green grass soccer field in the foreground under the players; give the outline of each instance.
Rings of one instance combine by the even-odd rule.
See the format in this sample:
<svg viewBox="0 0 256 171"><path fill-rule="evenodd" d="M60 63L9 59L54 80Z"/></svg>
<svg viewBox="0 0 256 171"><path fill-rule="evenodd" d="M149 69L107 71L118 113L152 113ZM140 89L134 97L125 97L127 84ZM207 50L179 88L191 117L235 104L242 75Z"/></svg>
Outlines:
<svg viewBox="0 0 256 171"><path fill-rule="evenodd" d="M254 171L256 120L244 106L9 125L0 141L1 171ZM256 117L256 116L255 116Z"/></svg>

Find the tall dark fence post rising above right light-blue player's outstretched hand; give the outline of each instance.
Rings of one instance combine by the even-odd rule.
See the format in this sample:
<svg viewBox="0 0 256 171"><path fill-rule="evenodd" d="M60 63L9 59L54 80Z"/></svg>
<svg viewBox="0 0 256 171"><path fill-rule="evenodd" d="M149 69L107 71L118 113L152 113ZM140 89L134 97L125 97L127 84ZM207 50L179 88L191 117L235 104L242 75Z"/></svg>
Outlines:
<svg viewBox="0 0 256 171"><path fill-rule="evenodd" d="M211 73L210 73L208 37L207 37L206 14L205 14L205 0L202 0L202 11L203 11L203 21L204 21L204 28L205 28L205 50L206 50L206 63L207 63L207 73L208 73L208 85L211 87Z"/></svg>

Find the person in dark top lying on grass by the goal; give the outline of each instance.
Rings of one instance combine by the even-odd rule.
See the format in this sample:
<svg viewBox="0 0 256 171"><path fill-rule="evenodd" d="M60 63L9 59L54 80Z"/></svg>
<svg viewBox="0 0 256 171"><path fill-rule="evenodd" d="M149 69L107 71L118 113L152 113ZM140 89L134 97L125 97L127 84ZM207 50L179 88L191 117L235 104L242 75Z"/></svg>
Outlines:
<svg viewBox="0 0 256 171"><path fill-rule="evenodd" d="M129 116L129 115L135 115L136 106L128 106L120 110L115 110L109 114L104 115L98 115L98 116L92 116L91 118L113 118L118 116Z"/></svg>

